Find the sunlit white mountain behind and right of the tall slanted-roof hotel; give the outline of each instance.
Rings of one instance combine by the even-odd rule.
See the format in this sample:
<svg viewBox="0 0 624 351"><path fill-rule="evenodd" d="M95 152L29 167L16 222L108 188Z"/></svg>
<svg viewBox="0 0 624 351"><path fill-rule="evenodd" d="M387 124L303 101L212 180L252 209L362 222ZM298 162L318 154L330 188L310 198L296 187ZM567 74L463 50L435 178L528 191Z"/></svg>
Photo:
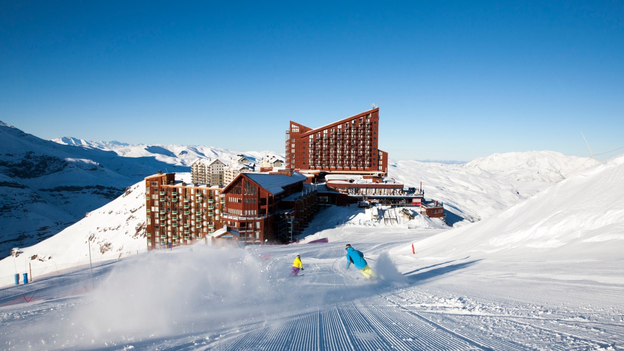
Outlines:
<svg viewBox="0 0 624 351"><path fill-rule="evenodd" d="M425 197L444 202L449 223L497 214L598 162L559 152L508 152L466 164L397 161L391 177L420 186Z"/></svg>

